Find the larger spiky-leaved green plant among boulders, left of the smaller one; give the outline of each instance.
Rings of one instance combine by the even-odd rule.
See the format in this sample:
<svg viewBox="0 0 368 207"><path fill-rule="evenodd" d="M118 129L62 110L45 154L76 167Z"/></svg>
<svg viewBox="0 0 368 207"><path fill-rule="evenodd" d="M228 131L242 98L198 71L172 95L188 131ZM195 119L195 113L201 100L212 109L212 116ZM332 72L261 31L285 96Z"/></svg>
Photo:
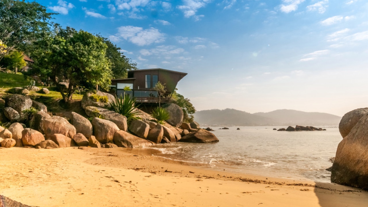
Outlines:
<svg viewBox="0 0 368 207"><path fill-rule="evenodd" d="M110 102L110 108L114 112L127 117L128 120L141 115L141 112L135 107L135 98L131 98L128 94L124 95L124 98L120 96L115 101Z"/></svg>

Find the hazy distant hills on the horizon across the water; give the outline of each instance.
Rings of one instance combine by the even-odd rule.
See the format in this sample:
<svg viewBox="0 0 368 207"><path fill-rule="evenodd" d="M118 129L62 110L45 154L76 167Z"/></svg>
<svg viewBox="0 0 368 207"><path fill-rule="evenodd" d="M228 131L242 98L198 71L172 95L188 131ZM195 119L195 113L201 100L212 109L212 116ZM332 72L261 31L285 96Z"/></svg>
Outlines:
<svg viewBox="0 0 368 207"><path fill-rule="evenodd" d="M329 113L275 110L268 113L247 113L236 109L202 110L194 114L199 124L223 126L337 126L340 116Z"/></svg>

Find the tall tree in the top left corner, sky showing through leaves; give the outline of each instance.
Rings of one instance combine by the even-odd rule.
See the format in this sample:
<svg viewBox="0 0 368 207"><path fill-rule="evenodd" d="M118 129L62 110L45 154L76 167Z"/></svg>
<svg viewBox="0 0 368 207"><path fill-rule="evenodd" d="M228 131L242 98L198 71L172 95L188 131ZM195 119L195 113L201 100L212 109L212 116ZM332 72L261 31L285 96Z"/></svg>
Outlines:
<svg viewBox="0 0 368 207"><path fill-rule="evenodd" d="M8 46L8 52L15 48L24 51L29 43L47 34L53 14L56 13L47 13L46 7L36 1L1 0L0 39Z"/></svg>

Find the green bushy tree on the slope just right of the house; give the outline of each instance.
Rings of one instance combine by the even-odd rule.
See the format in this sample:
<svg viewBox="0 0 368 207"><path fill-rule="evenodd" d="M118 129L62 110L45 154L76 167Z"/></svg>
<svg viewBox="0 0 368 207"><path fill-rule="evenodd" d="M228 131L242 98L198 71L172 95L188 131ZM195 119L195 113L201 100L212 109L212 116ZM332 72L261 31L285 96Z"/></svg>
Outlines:
<svg viewBox="0 0 368 207"><path fill-rule="evenodd" d="M184 112L184 122L192 122L194 120L194 116L192 114L195 113L195 108L190 102L190 99L185 98L183 95L178 94L177 88L173 92L171 96L171 103L175 103L176 105L180 106Z"/></svg>

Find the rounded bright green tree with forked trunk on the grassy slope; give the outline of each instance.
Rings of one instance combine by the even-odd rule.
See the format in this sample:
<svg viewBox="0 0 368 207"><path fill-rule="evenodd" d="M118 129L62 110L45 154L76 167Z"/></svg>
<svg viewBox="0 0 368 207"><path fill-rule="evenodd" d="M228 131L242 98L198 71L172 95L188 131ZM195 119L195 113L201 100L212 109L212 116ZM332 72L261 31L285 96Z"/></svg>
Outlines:
<svg viewBox="0 0 368 207"><path fill-rule="evenodd" d="M76 86L107 89L111 80L106 44L103 39L85 31L60 28L55 25L54 34L37 42L35 63L28 75L39 74L50 78L61 92L65 102L72 99ZM67 91L59 82L69 83Z"/></svg>

